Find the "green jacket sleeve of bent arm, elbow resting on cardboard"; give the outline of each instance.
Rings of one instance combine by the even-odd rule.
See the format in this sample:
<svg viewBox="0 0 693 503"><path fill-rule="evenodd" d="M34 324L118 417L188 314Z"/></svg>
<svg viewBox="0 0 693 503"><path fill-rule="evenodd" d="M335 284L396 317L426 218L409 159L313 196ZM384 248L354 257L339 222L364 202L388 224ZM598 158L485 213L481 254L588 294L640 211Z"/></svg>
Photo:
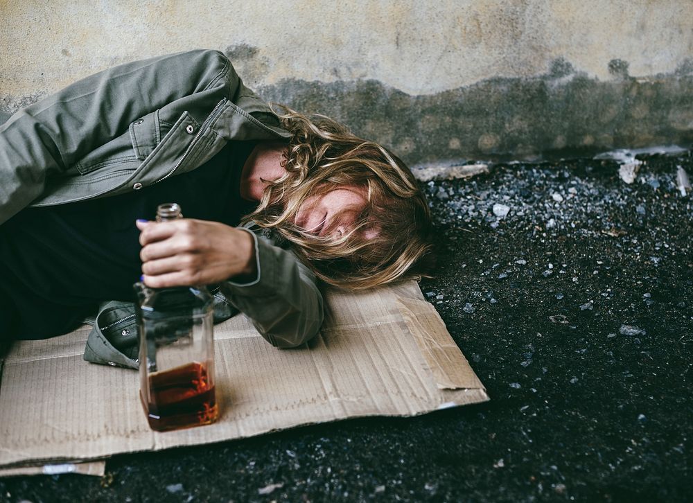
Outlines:
<svg viewBox="0 0 693 503"><path fill-rule="evenodd" d="M258 275L249 283L225 281L222 293L272 346L299 346L317 335L324 319L315 274L290 251L248 232L255 240Z"/></svg>

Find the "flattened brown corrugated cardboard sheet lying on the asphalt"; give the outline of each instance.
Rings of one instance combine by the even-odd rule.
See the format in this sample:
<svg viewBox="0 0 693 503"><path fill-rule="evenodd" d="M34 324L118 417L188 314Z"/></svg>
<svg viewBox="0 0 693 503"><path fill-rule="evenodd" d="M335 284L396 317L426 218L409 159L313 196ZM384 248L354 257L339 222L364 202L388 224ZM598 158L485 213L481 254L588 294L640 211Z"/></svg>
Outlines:
<svg viewBox="0 0 693 503"><path fill-rule="evenodd" d="M414 281L360 294L330 290L327 305L321 335L297 349L272 347L243 315L216 326L220 419L177 432L150 430L136 371L82 360L88 326L15 344L1 373L0 470L489 399ZM85 467L98 473L98 463Z"/></svg>

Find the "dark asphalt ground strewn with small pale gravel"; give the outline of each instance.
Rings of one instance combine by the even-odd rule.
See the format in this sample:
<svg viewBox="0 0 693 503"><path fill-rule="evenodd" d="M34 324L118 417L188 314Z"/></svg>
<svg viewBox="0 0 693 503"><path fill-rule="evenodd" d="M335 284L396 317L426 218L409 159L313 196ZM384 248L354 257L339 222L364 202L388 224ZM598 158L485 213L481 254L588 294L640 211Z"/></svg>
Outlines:
<svg viewBox="0 0 693 503"><path fill-rule="evenodd" d="M422 281L491 401L0 479L20 502L693 500L692 195L647 157L505 164L423 184Z"/></svg>

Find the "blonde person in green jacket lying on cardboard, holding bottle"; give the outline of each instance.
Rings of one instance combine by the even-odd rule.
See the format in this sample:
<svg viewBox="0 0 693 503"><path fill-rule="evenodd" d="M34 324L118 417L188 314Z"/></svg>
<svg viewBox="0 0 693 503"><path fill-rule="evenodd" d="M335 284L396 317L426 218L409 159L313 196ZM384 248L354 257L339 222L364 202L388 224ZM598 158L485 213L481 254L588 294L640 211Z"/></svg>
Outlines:
<svg viewBox="0 0 693 503"><path fill-rule="evenodd" d="M163 202L185 218L153 221ZM426 275L430 236L401 159L328 117L277 114L218 51L123 64L0 112L6 342L96 319L85 358L132 366L141 279L209 285L217 321L240 311L298 346L322 324L322 285Z"/></svg>

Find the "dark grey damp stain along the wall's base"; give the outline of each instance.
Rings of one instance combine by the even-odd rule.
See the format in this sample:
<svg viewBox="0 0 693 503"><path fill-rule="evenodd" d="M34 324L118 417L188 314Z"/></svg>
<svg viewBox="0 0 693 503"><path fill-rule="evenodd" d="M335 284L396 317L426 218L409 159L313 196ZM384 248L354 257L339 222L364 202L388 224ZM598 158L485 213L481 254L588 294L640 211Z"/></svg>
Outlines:
<svg viewBox="0 0 693 503"><path fill-rule="evenodd" d="M411 96L375 80L283 80L266 100L336 118L410 164L593 155L614 148L693 145L693 71L602 82L556 60L539 78L495 78Z"/></svg>

